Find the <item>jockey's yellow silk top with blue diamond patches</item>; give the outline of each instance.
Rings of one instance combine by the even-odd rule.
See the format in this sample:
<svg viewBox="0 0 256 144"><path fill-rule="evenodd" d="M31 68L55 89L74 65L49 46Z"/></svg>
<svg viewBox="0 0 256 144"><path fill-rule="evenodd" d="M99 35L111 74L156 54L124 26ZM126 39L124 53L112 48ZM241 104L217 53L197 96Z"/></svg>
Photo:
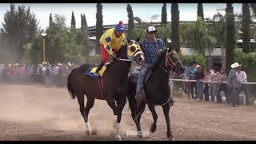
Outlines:
<svg viewBox="0 0 256 144"><path fill-rule="evenodd" d="M120 38L117 38L114 34L114 28L106 30L99 40L100 44L104 45L106 51L111 55L114 50L118 50L122 45L126 44L126 35L122 33Z"/></svg>

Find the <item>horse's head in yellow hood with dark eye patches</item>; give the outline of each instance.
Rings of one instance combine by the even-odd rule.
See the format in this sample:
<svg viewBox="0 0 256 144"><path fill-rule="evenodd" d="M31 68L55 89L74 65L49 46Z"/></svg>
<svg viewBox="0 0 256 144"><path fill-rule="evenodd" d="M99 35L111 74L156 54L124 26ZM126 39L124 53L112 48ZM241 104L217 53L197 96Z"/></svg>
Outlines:
<svg viewBox="0 0 256 144"><path fill-rule="evenodd" d="M130 60L134 60L138 64L142 64L144 61L144 53L141 50L141 47L138 45L139 38L137 38L136 41L130 40L127 38L126 46L123 46L120 49L120 55L118 55L118 58L125 57ZM124 54L124 50L126 50L126 55Z"/></svg>

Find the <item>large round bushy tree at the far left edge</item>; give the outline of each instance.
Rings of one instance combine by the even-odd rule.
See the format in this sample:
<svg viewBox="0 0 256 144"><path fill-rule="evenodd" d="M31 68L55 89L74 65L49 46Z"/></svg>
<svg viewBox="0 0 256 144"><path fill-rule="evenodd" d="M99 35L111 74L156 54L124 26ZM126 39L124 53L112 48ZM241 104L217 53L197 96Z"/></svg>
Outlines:
<svg viewBox="0 0 256 144"><path fill-rule="evenodd" d="M4 14L1 32L6 41L11 42L9 50L15 62L22 58L22 46L27 42L33 42L37 31L38 20L30 11L30 7L18 6L18 9L15 9L14 4L10 4L10 10Z"/></svg>

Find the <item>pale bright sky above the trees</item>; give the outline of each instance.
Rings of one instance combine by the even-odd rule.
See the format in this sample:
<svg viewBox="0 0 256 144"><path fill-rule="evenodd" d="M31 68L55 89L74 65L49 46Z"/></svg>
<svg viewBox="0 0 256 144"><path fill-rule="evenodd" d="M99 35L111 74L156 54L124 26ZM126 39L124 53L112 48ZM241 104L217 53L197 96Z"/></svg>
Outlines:
<svg viewBox="0 0 256 144"><path fill-rule="evenodd" d="M18 6L30 6L30 10L38 18L39 26L46 29L49 25L50 13L63 14L66 17L66 26L70 26L71 14L74 11L76 27L81 27L81 14L86 15L86 22L88 26L96 25L96 3L14 3ZM162 3L130 3L132 6L134 17L142 18L144 22L151 22L153 15L158 14L159 17L153 22L161 22ZM103 25L118 24L119 21L123 23L128 22L127 17L127 3L102 3ZM195 21L197 18L197 3L179 3L179 18L180 21ZM242 3L234 3L234 13L242 13ZM171 3L166 4L167 21L170 22ZM225 14L225 10L216 10L218 8L225 8L226 3L203 3L204 17L212 18L217 12ZM6 10L10 10L10 3L0 3L0 22L3 22ZM0 25L2 27L2 24Z"/></svg>

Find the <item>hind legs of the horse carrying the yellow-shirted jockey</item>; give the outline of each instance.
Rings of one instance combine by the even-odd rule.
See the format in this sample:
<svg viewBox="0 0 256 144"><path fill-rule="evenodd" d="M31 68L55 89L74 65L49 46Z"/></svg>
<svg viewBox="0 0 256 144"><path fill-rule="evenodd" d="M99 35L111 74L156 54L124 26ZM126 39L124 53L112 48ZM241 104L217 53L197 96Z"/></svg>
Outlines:
<svg viewBox="0 0 256 144"><path fill-rule="evenodd" d="M94 106L94 98L87 98L86 108L84 104L84 94L78 94L77 98L82 118L84 118L84 121L86 122L86 134L91 135L90 124L88 122L88 114L90 109Z"/></svg>

